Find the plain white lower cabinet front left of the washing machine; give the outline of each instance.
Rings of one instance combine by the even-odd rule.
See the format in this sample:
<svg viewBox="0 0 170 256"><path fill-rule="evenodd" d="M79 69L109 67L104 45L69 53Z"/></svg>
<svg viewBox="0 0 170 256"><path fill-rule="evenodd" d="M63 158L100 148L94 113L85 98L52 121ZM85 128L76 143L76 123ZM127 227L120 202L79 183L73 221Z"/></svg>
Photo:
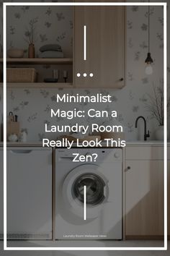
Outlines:
<svg viewBox="0 0 170 256"><path fill-rule="evenodd" d="M52 187L52 150L8 148L9 239L52 239Z"/></svg>

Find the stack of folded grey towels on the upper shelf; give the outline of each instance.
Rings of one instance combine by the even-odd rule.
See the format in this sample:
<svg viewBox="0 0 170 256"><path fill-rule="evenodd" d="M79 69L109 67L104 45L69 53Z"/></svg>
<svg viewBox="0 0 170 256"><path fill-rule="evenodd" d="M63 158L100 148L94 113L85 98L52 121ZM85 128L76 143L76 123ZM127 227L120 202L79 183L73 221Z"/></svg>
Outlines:
<svg viewBox="0 0 170 256"><path fill-rule="evenodd" d="M40 47L40 58L63 58L63 51L58 44L46 44Z"/></svg>

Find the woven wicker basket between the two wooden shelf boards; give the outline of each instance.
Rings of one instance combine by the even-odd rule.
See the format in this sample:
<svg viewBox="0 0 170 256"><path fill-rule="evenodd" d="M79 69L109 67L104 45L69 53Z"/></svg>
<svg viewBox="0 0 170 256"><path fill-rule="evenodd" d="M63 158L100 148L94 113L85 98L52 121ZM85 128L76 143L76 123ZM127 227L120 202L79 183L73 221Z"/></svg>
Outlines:
<svg viewBox="0 0 170 256"><path fill-rule="evenodd" d="M6 69L7 82L36 82L37 72L30 68L9 68Z"/></svg>

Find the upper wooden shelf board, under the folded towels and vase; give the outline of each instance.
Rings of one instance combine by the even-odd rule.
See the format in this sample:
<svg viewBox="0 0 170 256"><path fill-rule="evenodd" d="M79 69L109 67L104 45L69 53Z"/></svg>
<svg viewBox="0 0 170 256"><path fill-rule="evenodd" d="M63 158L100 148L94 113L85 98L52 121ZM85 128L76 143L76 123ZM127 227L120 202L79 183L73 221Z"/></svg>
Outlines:
<svg viewBox="0 0 170 256"><path fill-rule="evenodd" d="M3 62L3 59L0 59L0 62ZM8 58L7 59L7 64L72 64L73 59L69 58L63 58L63 59L25 59L25 58L20 58L20 59L13 59L13 58Z"/></svg>

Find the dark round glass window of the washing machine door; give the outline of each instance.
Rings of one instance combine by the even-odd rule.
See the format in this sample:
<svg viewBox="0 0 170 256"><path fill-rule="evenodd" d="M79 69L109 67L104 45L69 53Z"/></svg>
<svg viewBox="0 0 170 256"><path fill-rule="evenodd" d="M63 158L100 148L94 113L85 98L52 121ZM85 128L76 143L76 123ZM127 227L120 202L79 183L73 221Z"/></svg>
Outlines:
<svg viewBox="0 0 170 256"><path fill-rule="evenodd" d="M86 186L86 205L99 205L103 202L105 183L97 174L81 174L73 183L73 197L84 203L84 186Z"/></svg>

